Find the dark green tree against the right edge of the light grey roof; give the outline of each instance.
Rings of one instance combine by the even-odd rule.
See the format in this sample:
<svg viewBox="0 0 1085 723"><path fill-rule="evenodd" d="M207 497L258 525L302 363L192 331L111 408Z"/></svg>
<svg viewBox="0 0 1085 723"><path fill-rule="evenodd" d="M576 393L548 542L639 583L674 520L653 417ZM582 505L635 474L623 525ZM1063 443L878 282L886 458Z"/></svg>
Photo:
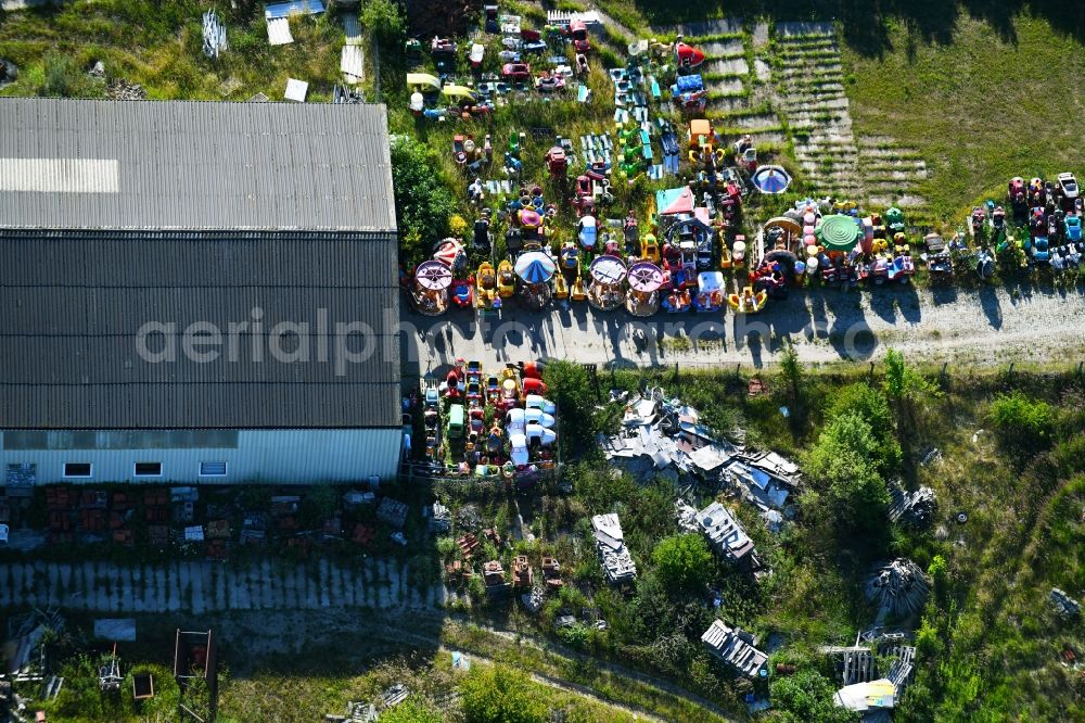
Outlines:
<svg viewBox="0 0 1085 723"><path fill-rule="evenodd" d="M456 200L441 180L433 152L406 136L397 137L392 143L392 185L399 225L400 261L418 264L430 255L435 242L447 236Z"/></svg>

